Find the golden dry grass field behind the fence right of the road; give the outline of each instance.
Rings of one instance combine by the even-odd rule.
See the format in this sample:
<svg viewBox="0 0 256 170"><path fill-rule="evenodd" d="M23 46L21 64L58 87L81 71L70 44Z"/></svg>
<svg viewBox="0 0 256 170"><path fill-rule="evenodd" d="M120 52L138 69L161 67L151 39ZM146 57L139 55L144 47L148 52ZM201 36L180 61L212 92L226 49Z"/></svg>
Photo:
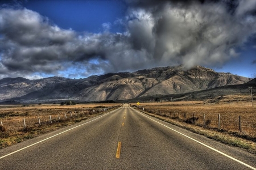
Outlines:
<svg viewBox="0 0 256 170"><path fill-rule="evenodd" d="M177 101L172 104L170 102L140 103L139 106L144 107L147 112L181 120L195 117L198 118L195 124L202 126L207 124L208 128L218 128L218 114L220 114L220 129L241 130L242 133L256 137L256 105L252 107L251 102L204 104L200 101ZM241 117L241 129L239 116Z"/></svg>

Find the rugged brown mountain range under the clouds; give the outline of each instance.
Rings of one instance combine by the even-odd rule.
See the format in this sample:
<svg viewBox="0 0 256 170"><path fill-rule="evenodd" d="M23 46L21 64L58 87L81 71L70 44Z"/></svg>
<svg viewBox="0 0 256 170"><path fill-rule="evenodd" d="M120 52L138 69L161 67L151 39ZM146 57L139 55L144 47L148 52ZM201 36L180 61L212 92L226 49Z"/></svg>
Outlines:
<svg viewBox="0 0 256 170"><path fill-rule="evenodd" d="M230 73L217 73L201 66L193 67L190 70L184 70L182 66L157 67L134 73L92 75L85 79L4 78L0 80L0 99L127 100L147 96L184 94L243 84L250 80L250 78Z"/></svg>

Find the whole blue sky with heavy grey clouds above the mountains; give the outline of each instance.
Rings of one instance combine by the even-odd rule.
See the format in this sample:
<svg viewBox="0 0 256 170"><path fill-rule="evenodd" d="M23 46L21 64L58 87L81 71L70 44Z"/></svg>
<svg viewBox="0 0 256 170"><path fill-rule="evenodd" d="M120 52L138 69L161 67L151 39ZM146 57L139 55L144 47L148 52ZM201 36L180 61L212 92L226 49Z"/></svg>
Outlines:
<svg viewBox="0 0 256 170"><path fill-rule="evenodd" d="M256 1L0 1L0 79L178 65L255 78Z"/></svg>

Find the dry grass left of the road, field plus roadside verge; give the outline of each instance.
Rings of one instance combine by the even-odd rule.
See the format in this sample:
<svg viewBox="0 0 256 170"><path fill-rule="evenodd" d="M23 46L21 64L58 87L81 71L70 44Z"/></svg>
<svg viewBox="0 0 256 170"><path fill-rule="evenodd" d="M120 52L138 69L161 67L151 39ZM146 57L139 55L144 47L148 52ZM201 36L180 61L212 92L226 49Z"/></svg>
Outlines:
<svg viewBox="0 0 256 170"><path fill-rule="evenodd" d="M118 105L120 104L27 105L25 107L0 105L0 123L2 124L0 124L0 148L95 117Z"/></svg>

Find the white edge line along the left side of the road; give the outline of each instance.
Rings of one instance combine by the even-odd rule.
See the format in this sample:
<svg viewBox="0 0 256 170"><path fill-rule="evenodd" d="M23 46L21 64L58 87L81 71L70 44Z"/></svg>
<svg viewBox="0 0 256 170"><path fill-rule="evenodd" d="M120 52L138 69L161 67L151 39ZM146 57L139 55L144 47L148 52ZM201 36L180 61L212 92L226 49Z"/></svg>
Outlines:
<svg viewBox="0 0 256 170"><path fill-rule="evenodd" d="M116 109L115 109L114 111L116 111ZM110 113L114 112L114 111L111 111L111 112L109 112L109 113L103 114L102 116L97 117L97 118L95 118L94 120L97 120L98 118L101 118L101 117L103 117L103 116L105 116L105 115L107 115L107 114L110 114ZM92 121L94 121L94 120L91 120L91 121L89 121L89 122L92 122ZM46 140L48 140L48 139L51 139L51 138L53 138L53 137L56 137L57 135L63 134L63 133L65 133L65 132L69 131L69 130L78 128L79 126L88 124L89 122L85 122L84 124L81 124L81 125L78 125L78 126L75 126L75 127L71 128L71 129L62 131L61 133L58 133L58 134L55 134L55 135L53 135L53 136L51 136L51 137L48 137L48 138L46 138L46 139L43 139L42 141L38 141L38 142L33 143L33 144L31 144L31 145L28 145L28 146L26 146L26 147L20 148L19 150L16 150L16 151L14 151L14 152L11 152L10 154L1 156L0 159L5 158L6 156L9 156L9 155L13 155L13 154L15 154L16 152L22 151L22 150L24 150L24 149L26 149L26 148L28 148L28 147L34 146L34 145L36 145L36 144L38 144L38 143L41 143L41 142L46 141Z"/></svg>

